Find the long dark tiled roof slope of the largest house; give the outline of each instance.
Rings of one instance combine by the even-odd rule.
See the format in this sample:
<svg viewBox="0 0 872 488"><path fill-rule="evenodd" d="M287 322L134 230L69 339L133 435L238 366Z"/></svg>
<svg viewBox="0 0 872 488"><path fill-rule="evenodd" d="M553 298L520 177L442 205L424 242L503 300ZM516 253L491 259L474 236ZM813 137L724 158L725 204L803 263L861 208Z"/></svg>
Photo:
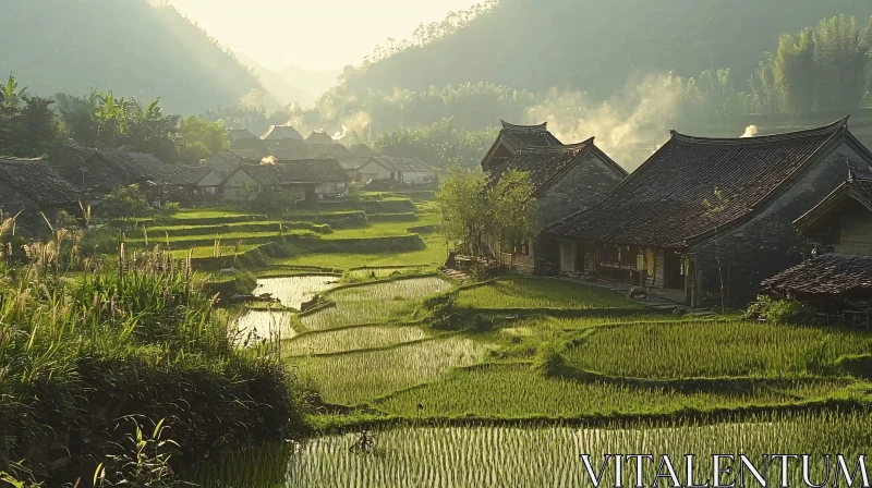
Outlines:
<svg viewBox="0 0 872 488"><path fill-rule="evenodd" d="M717 225L761 208L831 139L847 119L809 131L754 138L673 137L603 202L550 225L557 236L625 245L680 248ZM718 188L723 211L706 215Z"/></svg>

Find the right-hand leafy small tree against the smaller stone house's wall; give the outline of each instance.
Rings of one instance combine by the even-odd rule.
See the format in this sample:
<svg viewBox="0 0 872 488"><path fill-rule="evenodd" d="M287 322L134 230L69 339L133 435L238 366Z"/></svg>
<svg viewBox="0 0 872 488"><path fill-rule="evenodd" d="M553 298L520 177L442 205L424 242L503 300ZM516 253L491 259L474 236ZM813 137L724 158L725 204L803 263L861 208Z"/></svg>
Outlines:
<svg viewBox="0 0 872 488"><path fill-rule="evenodd" d="M530 242L538 231L538 203L533 196L530 173L510 170L499 178L489 192L495 235L500 244L518 246Z"/></svg>

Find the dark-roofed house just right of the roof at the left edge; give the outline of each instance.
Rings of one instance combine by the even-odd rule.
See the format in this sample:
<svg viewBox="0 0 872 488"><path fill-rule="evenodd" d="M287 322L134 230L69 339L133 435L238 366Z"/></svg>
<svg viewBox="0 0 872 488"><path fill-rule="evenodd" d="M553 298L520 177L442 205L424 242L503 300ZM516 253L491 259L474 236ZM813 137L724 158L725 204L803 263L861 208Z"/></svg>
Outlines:
<svg viewBox="0 0 872 488"><path fill-rule="evenodd" d="M160 182L169 173L153 155L122 149L65 145L46 159L63 179L99 200L120 186L140 185L149 200L160 199Z"/></svg>

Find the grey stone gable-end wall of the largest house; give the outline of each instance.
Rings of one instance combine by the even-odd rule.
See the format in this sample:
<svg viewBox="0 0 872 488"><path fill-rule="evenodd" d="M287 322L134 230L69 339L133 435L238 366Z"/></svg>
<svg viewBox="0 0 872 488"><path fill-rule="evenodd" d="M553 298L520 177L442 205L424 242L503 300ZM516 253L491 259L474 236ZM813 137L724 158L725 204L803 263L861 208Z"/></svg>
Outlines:
<svg viewBox="0 0 872 488"><path fill-rule="evenodd" d="M734 305L752 301L762 280L798 265L803 258L802 240L792 222L846 181L845 159L863 164L863 159L843 144L751 221L691 248L703 297L719 296L718 254L729 303Z"/></svg>

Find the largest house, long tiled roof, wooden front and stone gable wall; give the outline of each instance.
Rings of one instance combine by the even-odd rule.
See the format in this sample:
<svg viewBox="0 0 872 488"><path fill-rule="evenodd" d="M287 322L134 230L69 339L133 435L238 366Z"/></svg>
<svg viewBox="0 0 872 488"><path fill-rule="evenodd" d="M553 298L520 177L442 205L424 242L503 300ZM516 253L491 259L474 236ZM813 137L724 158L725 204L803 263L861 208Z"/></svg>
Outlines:
<svg viewBox="0 0 872 488"><path fill-rule="evenodd" d="M847 119L752 138L673 131L603 202L546 229L559 247L554 269L691 306L744 303L802 259L794 220L844 182L846 164L870 162Z"/></svg>

